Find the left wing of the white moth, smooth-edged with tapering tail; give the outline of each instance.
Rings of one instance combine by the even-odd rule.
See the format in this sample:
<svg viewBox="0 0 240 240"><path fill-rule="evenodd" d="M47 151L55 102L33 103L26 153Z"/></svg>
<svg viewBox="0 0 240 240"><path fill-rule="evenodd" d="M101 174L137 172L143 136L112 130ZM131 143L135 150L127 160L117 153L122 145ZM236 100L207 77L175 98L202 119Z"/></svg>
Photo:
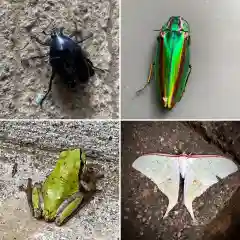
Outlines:
<svg viewBox="0 0 240 240"><path fill-rule="evenodd" d="M168 197L168 208L165 218L178 202L180 171L176 157L148 154L137 158L133 168L151 179Z"/></svg>

